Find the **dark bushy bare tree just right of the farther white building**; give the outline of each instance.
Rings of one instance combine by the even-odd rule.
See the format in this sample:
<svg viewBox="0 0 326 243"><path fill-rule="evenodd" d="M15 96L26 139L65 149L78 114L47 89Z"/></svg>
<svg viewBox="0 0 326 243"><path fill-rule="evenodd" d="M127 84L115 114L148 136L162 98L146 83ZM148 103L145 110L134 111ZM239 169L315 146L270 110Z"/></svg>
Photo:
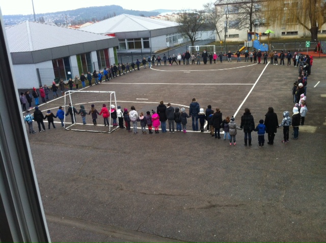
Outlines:
<svg viewBox="0 0 326 243"><path fill-rule="evenodd" d="M203 12L197 10L183 12L176 22L179 23L178 31L189 38L192 46L194 46L195 41L198 39L198 32L204 26Z"/></svg>

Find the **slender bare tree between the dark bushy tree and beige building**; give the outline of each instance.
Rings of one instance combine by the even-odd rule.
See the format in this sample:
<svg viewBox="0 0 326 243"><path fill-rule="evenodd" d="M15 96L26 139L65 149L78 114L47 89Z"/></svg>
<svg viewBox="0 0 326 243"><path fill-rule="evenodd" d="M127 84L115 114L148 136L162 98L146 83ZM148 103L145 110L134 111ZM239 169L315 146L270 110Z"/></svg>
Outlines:
<svg viewBox="0 0 326 243"><path fill-rule="evenodd" d="M219 24L219 22L224 17L223 10L217 10L212 2L204 4L203 8L206 26L215 29L220 41L222 41L220 33L223 31L223 25Z"/></svg>

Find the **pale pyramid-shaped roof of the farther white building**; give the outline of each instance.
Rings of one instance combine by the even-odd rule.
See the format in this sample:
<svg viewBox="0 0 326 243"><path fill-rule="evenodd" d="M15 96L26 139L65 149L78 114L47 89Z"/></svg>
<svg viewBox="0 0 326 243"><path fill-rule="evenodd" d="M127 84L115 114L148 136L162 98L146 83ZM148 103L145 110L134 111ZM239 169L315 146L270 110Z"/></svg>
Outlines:
<svg viewBox="0 0 326 243"><path fill-rule="evenodd" d="M121 14L80 29L96 34L113 34L122 32L151 31L153 29L168 28L178 25L178 23L172 21Z"/></svg>

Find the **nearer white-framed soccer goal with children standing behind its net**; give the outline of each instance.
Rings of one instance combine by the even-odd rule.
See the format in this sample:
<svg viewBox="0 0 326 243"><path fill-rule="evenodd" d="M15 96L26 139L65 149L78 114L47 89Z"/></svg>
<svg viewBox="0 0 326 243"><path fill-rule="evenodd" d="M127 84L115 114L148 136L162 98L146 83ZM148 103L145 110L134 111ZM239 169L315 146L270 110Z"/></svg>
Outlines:
<svg viewBox="0 0 326 243"><path fill-rule="evenodd" d="M97 114L96 123L92 118L91 108L94 108L101 112L101 109L105 104L107 110L110 112L108 117L108 126L104 126L104 118L102 115ZM114 105L117 109L116 92L114 91L71 91L66 92L65 95L65 130L73 131L85 131L85 132L100 132L100 133L112 133L118 128L113 126L113 119L111 118L111 106ZM72 107L71 116L68 112L69 107ZM86 110L85 124L81 114L76 114L84 106ZM90 114L89 114L90 113Z"/></svg>

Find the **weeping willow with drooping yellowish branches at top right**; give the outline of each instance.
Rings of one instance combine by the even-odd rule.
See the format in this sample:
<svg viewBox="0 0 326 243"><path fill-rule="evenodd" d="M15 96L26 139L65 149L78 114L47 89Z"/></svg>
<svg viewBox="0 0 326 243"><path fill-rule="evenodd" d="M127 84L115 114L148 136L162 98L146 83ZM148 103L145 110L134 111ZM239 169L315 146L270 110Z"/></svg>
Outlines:
<svg viewBox="0 0 326 243"><path fill-rule="evenodd" d="M318 40L318 30L326 22L325 0L266 0L265 18L277 26L298 23L311 34L311 40Z"/></svg>

